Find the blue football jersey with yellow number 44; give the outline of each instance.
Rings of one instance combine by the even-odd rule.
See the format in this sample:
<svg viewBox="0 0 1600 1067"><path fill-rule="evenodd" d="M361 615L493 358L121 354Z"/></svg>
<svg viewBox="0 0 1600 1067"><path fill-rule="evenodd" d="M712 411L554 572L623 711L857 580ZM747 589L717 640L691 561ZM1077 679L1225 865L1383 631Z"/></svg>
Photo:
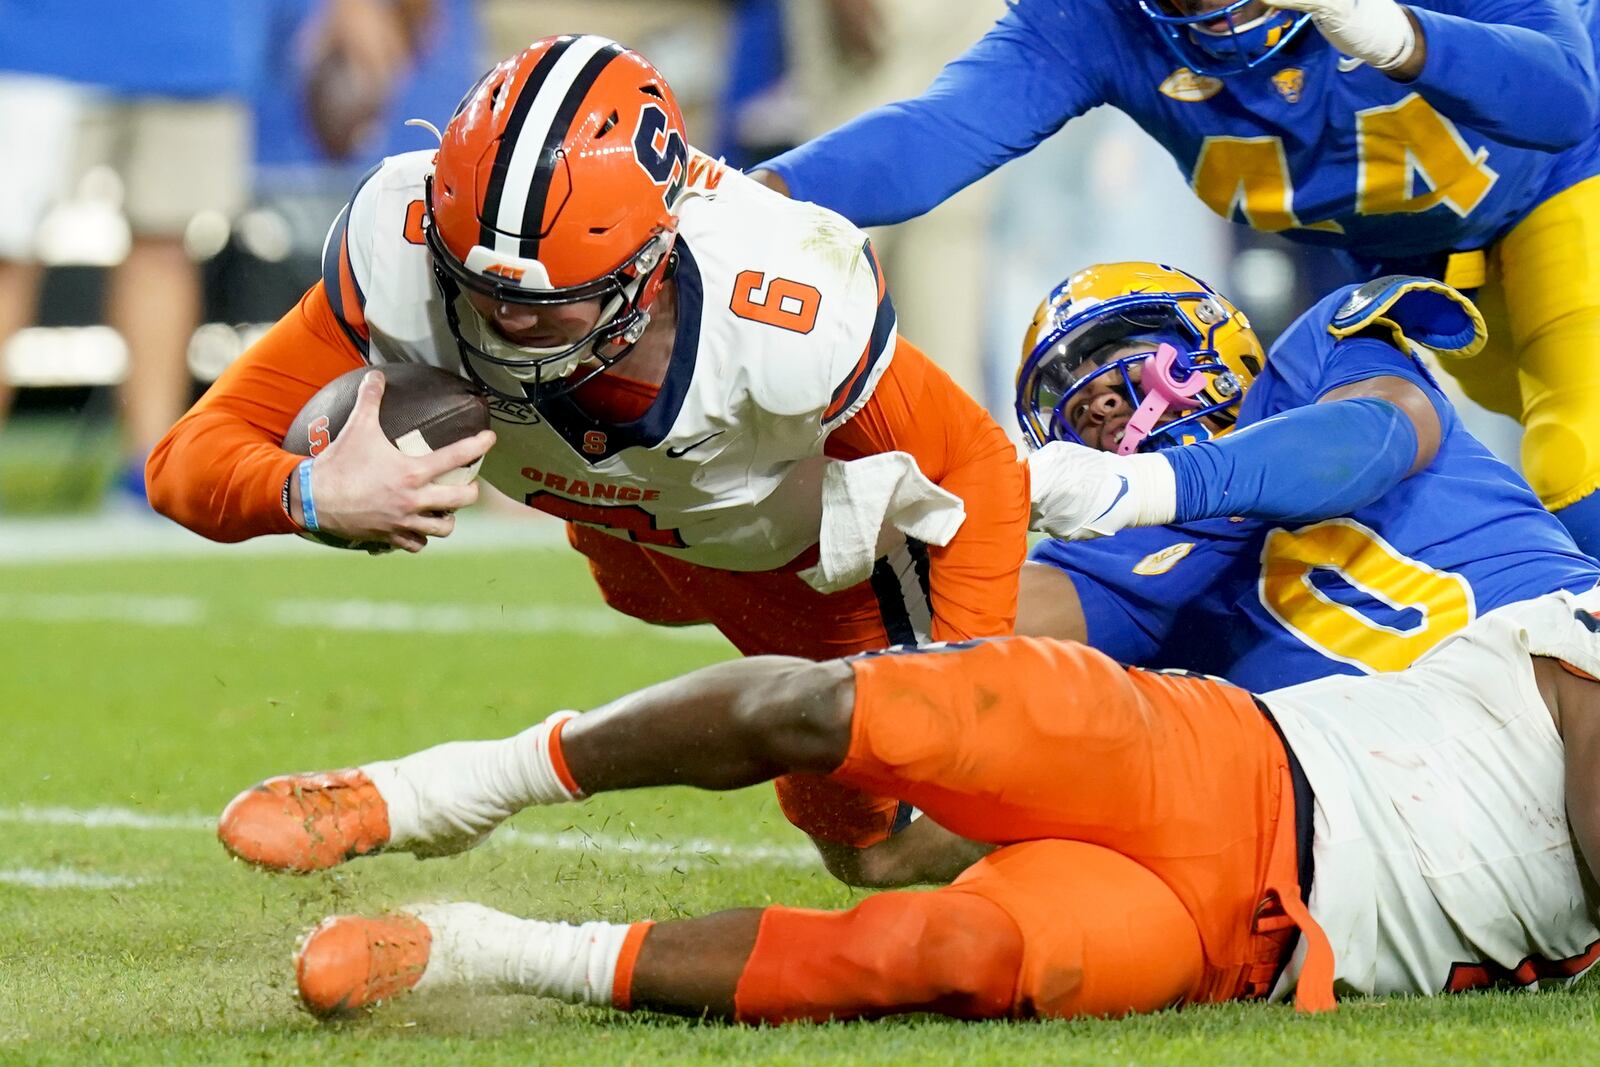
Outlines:
<svg viewBox="0 0 1600 1067"><path fill-rule="evenodd" d="M1162 142L1219 214L1400 261L1480 248L1600 173L1592 0L1413 0L1413 82L1312 26L1229 75L1182 67L1134 0L1014 0L930 90L763 165L858 224L896 222L1099 104Z"/></svg>

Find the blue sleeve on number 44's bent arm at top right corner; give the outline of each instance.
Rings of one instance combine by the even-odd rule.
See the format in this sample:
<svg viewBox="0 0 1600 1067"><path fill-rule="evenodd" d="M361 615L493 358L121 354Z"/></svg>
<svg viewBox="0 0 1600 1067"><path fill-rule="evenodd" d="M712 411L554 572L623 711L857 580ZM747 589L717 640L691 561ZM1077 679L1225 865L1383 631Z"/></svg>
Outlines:
<svg viewBox="0 0 1600 1067"><path fill-rule="evenodd" d="M1459 123L1506 144L1557 152L1595 128L1600 96L1589 29L1573 0L1462 0L1459 14L1411 6L1427 38L1411 83Z"/></svg>

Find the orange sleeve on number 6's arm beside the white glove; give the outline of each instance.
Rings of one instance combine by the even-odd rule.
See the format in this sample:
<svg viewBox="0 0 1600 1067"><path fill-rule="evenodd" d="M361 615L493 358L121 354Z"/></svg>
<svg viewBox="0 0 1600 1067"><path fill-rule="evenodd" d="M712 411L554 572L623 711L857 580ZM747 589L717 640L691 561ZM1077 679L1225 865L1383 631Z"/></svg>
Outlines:
<svg viewBox="0 0 1600 1067"><path fill-rule="evenodd" d="M829 435L824 451L834 459L910 453L931 482L962 498L960 531L942 549L928 545L933 638L1011 633L1027 555L1027 470L976 400L896 338L872 398Z"/></svg>

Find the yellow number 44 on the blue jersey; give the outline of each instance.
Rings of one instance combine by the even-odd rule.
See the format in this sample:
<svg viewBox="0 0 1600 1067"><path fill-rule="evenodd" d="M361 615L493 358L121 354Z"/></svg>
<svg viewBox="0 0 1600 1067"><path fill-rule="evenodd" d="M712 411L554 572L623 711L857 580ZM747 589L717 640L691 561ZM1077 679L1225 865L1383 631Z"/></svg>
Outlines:
<svg viewBox="0 0 1600 1067"><path fill-rule="evenodd" d="M1358 214L1408 214L1443 203L1466 218L1499 178L1488 165L1488 149L1472 152L1456 125L1416 93L1355 112L1355 133ZM1416 178L1427 190L1413 194ZM1294 216L1294 184L1280 138L1206 138L1192 184L1208 208L1224 219L1237 210L1251 229L1342 232L1333 219L1301 222Z"/></svg>

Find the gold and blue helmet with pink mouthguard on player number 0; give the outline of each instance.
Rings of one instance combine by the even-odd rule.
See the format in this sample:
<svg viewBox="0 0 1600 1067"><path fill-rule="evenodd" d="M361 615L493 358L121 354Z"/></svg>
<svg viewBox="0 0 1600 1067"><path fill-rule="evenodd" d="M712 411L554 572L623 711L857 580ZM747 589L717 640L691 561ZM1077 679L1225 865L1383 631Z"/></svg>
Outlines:
<svg viewBox="0 0 1600 1067"><path fill-rule="evenodd" d="M1016 416L1034 448L1074 442L1120 454L1226 434L1266 362L1250 320L1190 274L1096 264L1051 290L1016 373ZM1130 411L1114 443L1086 442L1083 408L1109 384ZM1112 427L1106 427L1110 430Z"/></svg>

